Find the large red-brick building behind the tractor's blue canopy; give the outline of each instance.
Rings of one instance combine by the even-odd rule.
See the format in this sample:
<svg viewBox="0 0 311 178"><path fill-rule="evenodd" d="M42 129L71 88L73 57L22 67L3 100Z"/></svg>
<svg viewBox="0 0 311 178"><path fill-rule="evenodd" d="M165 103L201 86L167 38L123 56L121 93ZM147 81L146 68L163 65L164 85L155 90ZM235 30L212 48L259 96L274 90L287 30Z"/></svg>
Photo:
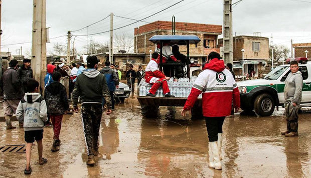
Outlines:
<svg viewBox="0 0 311 178"><path fill-rule="evenodd" d="M190 57L202 63L207 55L212 52L220 52L217 48L218 35L222 34L221 25L195 24L176 22L176 35L196 35L201 41L195 45L190 45ZM145 62L150 58L149 50L154 51L156 45L148 39L154 35L172 35L172 22L156 21L134 29L134 51L135 53L144 53ZM180 46L180 52L186 54L186 46Z"/></svg>

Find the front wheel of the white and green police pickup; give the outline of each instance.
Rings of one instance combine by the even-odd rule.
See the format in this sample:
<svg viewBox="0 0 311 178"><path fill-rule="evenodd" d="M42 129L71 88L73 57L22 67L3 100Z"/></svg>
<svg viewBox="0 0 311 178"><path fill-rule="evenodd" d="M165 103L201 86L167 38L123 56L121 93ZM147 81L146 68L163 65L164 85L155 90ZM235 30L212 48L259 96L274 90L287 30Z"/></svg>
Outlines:
<svg viewBox="0 0 311 178"><path fill-rule="evenodd" d="M274 99L269 94L261 94L257 96L254 102L255 112L260 116L269 116L274 111Z"/></svg>

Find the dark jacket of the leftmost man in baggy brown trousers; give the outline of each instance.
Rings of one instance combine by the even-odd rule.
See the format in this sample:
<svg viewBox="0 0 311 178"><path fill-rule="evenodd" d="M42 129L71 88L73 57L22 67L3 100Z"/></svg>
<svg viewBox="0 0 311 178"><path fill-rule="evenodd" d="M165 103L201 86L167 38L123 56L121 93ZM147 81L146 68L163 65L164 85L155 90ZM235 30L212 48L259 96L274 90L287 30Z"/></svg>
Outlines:
<svg viewBox="0 0 311 178"><path fill-rule="evenodd" d="M2 76L4 85L4 99L22 99L23 93L17 71L11 67Z"/></svg>

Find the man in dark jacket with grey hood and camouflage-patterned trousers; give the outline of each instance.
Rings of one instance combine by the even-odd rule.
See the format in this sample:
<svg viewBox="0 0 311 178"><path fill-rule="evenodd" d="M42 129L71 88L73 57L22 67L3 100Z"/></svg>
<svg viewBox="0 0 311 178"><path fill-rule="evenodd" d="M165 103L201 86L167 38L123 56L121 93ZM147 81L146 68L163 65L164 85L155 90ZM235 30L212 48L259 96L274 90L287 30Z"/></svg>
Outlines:
<svg viewBox="0 0 311 178"><path fill-rule="evenodd" d="M111 113L111 98L105 76L97 70L96 56L87 57L87 68L77 77L73 90L73 107L78 113L78 97L81 98L81 115L88 152L87 164L94 165L98 155L99 127L102 114L101 98L105 97L107 111Z"/></svg>

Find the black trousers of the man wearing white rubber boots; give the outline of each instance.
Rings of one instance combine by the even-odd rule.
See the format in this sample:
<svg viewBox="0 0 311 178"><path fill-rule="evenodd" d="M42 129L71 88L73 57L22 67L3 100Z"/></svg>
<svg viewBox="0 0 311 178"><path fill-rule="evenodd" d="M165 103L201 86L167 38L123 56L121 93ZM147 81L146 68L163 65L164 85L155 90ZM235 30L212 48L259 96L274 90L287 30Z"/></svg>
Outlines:
<svg viewBox="0 0 311 178"><path fill-rule="evenodd" d="M210 142L218 140L218 133L222 133L225 117L204 117L208 139Z"/></svg>

